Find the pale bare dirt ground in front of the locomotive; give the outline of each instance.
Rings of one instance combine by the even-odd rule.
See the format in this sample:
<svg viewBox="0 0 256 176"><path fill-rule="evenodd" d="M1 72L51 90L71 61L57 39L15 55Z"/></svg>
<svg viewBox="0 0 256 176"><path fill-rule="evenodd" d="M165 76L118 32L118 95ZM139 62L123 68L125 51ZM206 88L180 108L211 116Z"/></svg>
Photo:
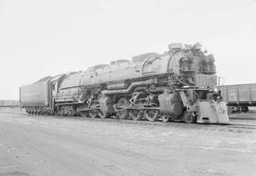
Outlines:
<svg viewBox="0 0 256 176"><path fill-rule="evenodd" d="M158 124L0 109L0 176L256 175L255 129Z"/></svg>

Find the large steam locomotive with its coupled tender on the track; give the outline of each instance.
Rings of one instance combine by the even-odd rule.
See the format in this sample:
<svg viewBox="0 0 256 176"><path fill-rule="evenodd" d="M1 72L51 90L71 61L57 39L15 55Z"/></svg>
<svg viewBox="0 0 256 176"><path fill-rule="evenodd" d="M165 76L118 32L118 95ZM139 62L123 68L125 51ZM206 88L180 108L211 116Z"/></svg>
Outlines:
<svg viewBox="0 0 256 176"><path fill-rule="evenodd" d="M226 102L213 91L214 58L200 44L170 44L163 54L99 64L20 88L28 114L227 123Z"/></svg>

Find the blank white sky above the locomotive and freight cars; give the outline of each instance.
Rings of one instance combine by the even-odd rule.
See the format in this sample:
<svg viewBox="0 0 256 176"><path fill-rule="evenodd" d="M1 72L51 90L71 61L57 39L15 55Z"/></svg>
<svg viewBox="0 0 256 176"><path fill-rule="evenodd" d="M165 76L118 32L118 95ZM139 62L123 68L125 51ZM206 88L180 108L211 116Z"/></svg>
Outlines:
<svg viewBox="0 0 256 176"><path fill-rule="evenodd" d="M0 99L45 76L196 42L226 84L256 82L256 1L0 0Z"/></svg>

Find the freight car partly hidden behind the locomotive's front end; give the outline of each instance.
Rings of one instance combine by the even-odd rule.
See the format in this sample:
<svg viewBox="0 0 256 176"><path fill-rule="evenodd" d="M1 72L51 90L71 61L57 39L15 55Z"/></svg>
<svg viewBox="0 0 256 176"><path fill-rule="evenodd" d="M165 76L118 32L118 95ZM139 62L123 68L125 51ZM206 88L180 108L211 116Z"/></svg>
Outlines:
<svg viewBox="0 0 256 176"><path fill-rule="evenodd" d="M227 102L229 113L247 113L248 106L256 106L256 83L222 85L218 89Z"/></svg>

